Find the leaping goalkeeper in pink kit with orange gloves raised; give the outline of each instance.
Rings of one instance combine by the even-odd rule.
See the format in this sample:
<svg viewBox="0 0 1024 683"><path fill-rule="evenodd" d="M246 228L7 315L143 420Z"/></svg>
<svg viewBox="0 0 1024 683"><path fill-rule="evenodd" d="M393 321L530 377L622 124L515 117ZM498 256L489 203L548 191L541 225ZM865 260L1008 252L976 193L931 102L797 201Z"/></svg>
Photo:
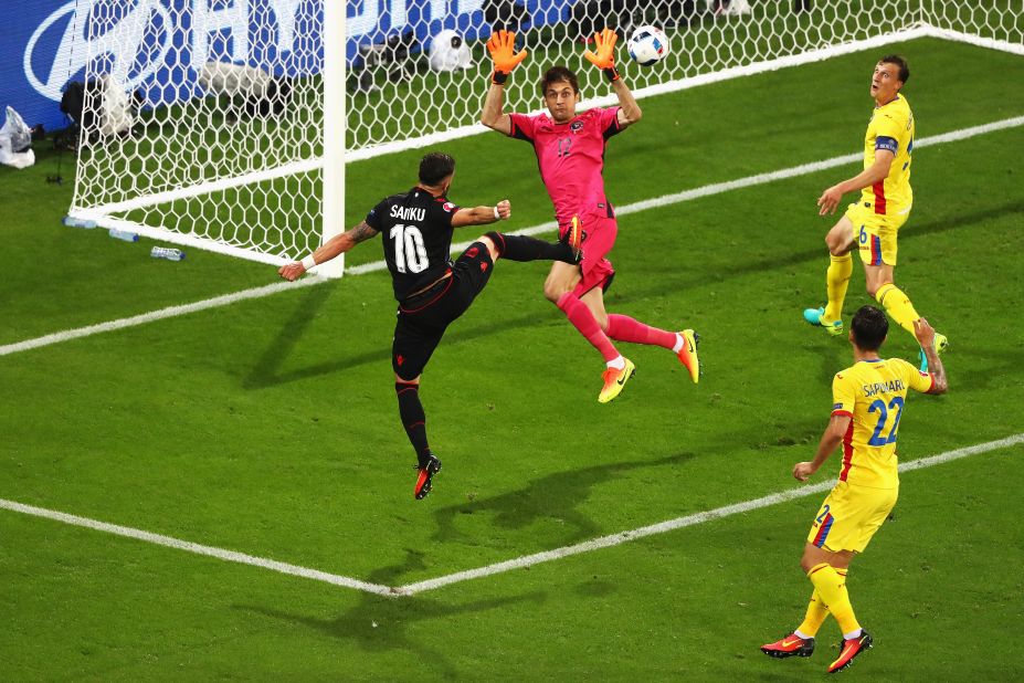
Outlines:
<svg viewBox="0 0 1024 683"><path fill-rule="evenodd" d="M671 349L689 370L694 382L698 380L700 368L697 335L693 329L666 332L604 309L604 291L615 275L606 255L619 231L614 209L604 195L601 175L604 147L613 135L638 122L642 113L615 71L617 35L604 29L594 39L597 52L588 50L583 56L608 76L619 97L619 106L577 114L580 87L576 74L564 66L552 66L540 83L548 113L506 114L505 83L527 53L525 50L515 52L515 33L498 31L487 42L494 74L481 123L534 146L541 179L555 204L559 238L574 250L582 250L583 260L579 264L552 265L543 292L604 357L608 367L598 400L606 403L619 396L635 371L633 362L619 353L612 339Z"/></svg>

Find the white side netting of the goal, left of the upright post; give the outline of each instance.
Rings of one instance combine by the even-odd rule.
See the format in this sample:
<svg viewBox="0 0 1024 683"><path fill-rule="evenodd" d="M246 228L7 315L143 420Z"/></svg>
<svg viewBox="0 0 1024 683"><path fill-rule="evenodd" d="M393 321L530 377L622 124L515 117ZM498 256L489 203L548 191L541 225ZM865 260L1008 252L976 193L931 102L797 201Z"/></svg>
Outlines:
<svg viewBox="0 0 1024 683"><path fill-rule="evenodd" d="M74 210L276 258L318 245L319 2L80 0L74 20L88 52Z"/></svg>

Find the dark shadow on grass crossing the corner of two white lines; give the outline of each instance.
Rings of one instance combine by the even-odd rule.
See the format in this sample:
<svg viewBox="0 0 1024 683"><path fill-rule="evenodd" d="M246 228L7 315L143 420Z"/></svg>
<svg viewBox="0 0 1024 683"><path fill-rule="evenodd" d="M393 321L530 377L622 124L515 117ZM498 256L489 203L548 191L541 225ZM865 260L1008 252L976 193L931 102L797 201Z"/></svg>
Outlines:
<svg viewBox="0 0 1024 683"><path fill-rule="evenodd" d="M376 569L366 580L394 586L402 582L402 577L409 572L425 568L423 551L407 549L404 563ZM425 629L422 640L414 639L409 633L410 627L421 621L458 618L467 613L505 609L518 602L541 603L545 600L547 593L540 591L467 602L444 601L426 596L386 597L359 591L358 602L334 618L310 617L255 605L236 605L234 608L299 623L331 638L351 641L368 652L408 652L420 662L430 662L424 673L442 670L443 677L454 679L458 671L444 658L444 650L432 647L434 639Z"/></svg>

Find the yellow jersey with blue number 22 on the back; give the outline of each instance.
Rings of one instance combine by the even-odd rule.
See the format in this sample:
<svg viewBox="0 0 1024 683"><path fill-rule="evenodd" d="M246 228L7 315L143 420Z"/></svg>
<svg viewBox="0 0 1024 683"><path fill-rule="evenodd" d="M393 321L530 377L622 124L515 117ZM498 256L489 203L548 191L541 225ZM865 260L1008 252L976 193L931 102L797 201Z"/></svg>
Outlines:
<svg viewBox="0 0 1024 683"><path fill-rule="evenodd" d="M907 391L928 391L932 377L900 358L862 360L832 380L832 414L849 416L840 481L896 488L896 433Z"/></svg>

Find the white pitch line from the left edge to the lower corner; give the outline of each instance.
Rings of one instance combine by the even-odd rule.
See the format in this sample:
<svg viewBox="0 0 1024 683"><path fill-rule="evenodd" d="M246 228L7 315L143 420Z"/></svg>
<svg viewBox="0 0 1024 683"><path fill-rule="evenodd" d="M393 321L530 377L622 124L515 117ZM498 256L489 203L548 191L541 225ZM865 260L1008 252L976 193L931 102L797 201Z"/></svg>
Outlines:
<svg viewBox="0 0 1024 683"><path fill-rule="evenodd" d="M76 515L68 515L67 513L56 512L54 509L35 507L34 505L24 505L22 503L15 503L14 501L6 501L0 498L0 508L10 509L12 512L19 512L35 517L44 517L55 522L63 522L64 524L71 524L73 526L84 526L97 532L105 532L107 534L115 534L117 536L125 536L127 538L135 538L137 540L145 540L146 543L152 543L158 546L175 548L176 550L184 550L186 553L194 553L196 555L215 557L217 559L222 559L229 563L239 563L241 565L261 567L263 569L270 569L271 571L277 571L279 574L298 576L304 579L313 579L315 581L323 581L334 586L344 586L345 588L365 590L367 592L377 593L379 596L394 595L394 591L387 586L368 584L367 581L360 581L359 579L353 579L347 576L339 576L336 574L320 571L318 569L298 567L296 565L279 563L277 560L266 559L263 557L253 557L252 555L245 555L244 553L235 553L234 550L225 550L223 548L204 546L198 543L191 543L189 540L180 540L170 536L162 536L151 532L144 532L141 529L131 528L129 526L107 524L106 522L97 522L96 519L89 519L88 517L78 517Z"/></svg>

